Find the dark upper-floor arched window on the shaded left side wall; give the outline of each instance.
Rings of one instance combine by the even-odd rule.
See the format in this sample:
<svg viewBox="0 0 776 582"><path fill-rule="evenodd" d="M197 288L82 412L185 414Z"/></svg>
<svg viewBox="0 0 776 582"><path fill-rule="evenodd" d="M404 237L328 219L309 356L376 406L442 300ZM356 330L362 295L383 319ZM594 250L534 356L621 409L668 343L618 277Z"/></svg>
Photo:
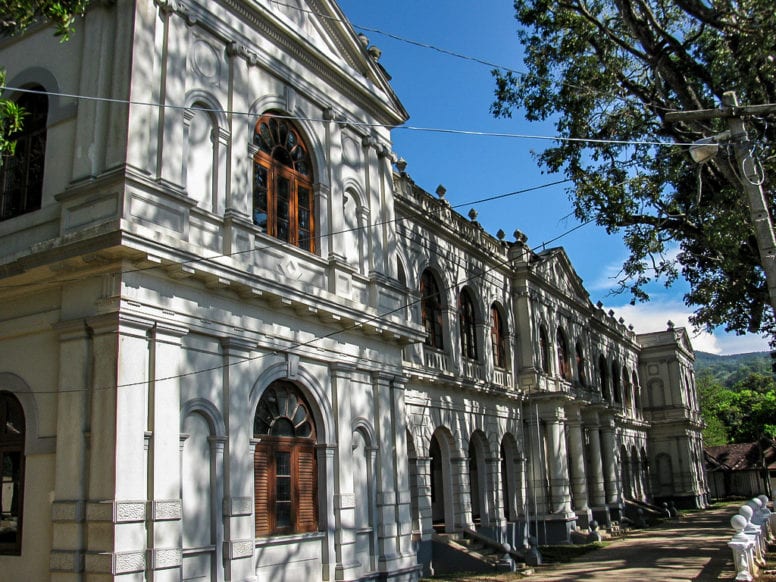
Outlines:
<svg viewBox="0 0 776 582"><path fill-rule="evenodd" d="M43 199L48 97L25 93L17 104L26 114L21 131L10 136L16 140L14 154L0 164L0 220L38 210Z"/></svg>

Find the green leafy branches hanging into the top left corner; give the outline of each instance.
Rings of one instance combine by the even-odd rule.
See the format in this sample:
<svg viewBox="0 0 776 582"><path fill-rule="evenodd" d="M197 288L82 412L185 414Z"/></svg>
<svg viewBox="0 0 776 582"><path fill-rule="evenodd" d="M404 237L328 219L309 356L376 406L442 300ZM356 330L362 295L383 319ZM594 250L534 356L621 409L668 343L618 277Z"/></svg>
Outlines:
<svg viewBox="0 0 776 582"><path fill-rule="evenodd" d="M75 20L83 16L91 0L3 0L0 10L0 34L15 36L39 22L54 25L54 35L63 41L75 31ZM22 128L24 111L5 95L5 71L0 69L0 165L4 156L13 155L13 135Z"/></svg>

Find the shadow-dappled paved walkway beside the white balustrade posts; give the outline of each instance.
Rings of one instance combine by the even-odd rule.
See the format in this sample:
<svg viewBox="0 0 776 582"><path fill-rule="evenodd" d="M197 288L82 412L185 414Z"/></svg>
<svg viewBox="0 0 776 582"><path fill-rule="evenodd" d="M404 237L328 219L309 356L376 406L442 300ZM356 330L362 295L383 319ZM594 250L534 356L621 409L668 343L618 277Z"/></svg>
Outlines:
<svg viewBox="0 0 776 582"><path fill-rule="evenodd" d="M647 530L635 530L570 564L537 568L527 580L733 580L727 542L737 505L686 514Z"/></svg>

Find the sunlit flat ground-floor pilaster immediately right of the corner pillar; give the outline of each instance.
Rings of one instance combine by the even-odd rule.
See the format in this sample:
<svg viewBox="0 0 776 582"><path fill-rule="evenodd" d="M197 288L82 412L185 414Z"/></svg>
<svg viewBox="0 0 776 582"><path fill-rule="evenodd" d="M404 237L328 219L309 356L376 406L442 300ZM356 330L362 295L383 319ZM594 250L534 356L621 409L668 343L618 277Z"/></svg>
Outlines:
<svg viewBox="0 0 776 582"><path fill-rule="evenodd" d="M159 323L150 332L148 567L154 582L176 582L183 565L178 374L184 369L181 338L187 333L185 328Z"/></svg>

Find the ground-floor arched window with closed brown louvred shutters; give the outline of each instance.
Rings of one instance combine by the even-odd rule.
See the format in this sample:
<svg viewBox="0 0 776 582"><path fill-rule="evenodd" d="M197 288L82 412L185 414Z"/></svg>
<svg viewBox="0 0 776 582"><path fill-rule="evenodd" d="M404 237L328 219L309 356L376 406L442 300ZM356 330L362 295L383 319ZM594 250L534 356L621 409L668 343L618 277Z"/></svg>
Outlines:
<svg viewBox="0 0 776 582"><path fill-rule="evenodd" d="M318 530L315 423L289 382L274 382L253 421L256 536Z"/></svg>

